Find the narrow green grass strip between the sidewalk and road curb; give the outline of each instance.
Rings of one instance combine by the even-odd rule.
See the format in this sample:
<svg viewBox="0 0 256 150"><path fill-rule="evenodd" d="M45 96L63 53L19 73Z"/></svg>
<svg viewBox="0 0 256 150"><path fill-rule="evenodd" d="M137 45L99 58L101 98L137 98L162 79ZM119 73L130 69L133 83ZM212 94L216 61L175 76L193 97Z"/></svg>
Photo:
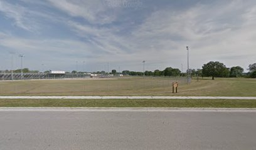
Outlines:
<svg viewBox="0 0 256 150"><path fill-rule="evenodd" d="M0 107L256 108L248 99L0 99Z"/></svg>

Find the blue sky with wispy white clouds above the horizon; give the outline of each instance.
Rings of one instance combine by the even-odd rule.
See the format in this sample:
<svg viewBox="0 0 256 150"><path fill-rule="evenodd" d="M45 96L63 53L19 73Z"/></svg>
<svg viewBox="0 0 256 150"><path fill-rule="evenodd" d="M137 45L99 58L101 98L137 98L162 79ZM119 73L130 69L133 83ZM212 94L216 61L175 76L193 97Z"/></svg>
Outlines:
<svg viewBox="0 0 256 150"><path fill-rule="evenodd" d="M0 0L0 70L256 63L256 1ZM183 66L183 67L182 67Z"/></svg>

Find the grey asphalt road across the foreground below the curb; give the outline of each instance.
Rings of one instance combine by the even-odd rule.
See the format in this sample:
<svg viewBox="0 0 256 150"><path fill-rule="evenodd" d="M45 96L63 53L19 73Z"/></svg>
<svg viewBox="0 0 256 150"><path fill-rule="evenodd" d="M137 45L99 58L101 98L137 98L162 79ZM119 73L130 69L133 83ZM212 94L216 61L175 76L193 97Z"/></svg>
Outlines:
<svg viewBox="0 0 256 150"><path fill-rule="evenodd" d="M0 111L0 149L256 149L256 113Z"/></svg>

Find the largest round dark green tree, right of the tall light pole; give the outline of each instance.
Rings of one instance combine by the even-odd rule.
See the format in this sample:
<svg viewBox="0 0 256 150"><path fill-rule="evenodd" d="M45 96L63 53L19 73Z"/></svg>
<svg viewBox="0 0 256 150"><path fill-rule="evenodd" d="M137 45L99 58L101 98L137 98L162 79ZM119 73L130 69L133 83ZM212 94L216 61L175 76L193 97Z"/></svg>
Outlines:
<svg viewBox="0 0 256 150"><path fill-rule="evenodd" d="M211 79L214 79L215 77L227 77L229 70L223 63L210 61L203 65L202 73L204 76L211 76Z"/></svg>

